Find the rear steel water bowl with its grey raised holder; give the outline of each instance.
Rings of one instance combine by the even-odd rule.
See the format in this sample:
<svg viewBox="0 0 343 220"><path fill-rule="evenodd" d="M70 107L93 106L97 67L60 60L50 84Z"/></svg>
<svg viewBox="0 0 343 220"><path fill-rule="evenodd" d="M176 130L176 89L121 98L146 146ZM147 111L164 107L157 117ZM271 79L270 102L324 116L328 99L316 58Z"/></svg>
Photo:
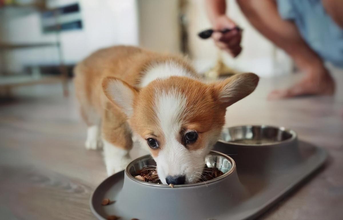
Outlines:
<svg viewBox="0 0 343 220"><path fill-rule="evenodd" d="M290 169L300 160L297 134L284 127L243 125L223 130L214 150L230 155L240 170Z"/></svg>

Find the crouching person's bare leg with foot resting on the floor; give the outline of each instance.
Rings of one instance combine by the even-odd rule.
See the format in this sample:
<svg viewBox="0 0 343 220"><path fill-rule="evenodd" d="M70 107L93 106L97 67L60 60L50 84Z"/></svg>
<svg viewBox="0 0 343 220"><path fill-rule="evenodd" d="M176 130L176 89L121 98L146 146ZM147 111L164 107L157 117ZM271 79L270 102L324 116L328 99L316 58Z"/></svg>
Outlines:
<svg viewBox="0 0 343 220"><path fill-rule="evenodd" d="M283 20L274 0L238 0L241 10L261 34L285 50L306 76L296 85L285 90L275 90L270 99L299 95L332 95L334 82L323 61L301 37L296 25Z"/></svg>

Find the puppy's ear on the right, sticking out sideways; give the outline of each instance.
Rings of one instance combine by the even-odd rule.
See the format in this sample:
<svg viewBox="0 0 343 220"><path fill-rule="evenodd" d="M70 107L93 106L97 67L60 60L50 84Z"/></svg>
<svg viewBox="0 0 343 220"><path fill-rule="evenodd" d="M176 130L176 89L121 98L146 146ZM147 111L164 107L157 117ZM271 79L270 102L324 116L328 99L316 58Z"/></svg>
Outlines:
<svg viewBox="0 0 343 220"><path fill-rule="evenodd" d="M259 77L254 73L241 73L214 84L214 93L225 107L243 99L255 90Z"/></svg>

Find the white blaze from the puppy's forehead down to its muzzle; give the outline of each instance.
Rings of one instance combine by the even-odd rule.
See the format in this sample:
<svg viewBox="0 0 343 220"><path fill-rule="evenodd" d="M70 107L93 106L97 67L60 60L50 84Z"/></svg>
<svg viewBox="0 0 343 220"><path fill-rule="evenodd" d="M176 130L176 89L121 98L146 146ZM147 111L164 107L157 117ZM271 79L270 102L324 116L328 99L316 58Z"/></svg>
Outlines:
<svg viewBox="0 0 343 220"><path fill-rule="evenodd" d="M167 175L186 175L186 181L191 181L193 168L199 169L203 163L203 150L191 152L178 141L187 99L177 91L157 91L155 103L155 112L165 137L165 145L154 158L158 176L164 184L167 184Z"/></svg>

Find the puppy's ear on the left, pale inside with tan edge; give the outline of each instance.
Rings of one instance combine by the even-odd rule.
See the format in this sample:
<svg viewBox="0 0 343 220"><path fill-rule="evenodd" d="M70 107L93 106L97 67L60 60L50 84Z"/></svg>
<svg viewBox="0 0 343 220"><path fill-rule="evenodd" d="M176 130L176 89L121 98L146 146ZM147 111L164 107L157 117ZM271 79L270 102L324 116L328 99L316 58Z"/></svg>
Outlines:
<svg viewBox="0 0 343 220"><path fill-rule="evenodd" d="M104 78L102 86L107 98L119 106L128 117L131 117L133 100L138 94L138 90L128 83L110 76Z"/></svg>

